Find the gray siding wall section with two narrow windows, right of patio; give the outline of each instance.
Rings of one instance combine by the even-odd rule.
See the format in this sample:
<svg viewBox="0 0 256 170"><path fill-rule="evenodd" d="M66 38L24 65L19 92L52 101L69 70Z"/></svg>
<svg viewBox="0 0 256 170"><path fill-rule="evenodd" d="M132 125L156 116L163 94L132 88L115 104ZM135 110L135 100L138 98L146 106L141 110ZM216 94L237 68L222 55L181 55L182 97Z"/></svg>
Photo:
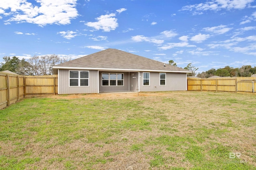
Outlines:
<svg viewBox="0 0 256 170"><path fill-rule="evenodd" d="M143 86L143 72L140 72L140 92L187 90L186 73L166 72L166 85L160 86L160 72L150 72L150 86Z"/></svg>

